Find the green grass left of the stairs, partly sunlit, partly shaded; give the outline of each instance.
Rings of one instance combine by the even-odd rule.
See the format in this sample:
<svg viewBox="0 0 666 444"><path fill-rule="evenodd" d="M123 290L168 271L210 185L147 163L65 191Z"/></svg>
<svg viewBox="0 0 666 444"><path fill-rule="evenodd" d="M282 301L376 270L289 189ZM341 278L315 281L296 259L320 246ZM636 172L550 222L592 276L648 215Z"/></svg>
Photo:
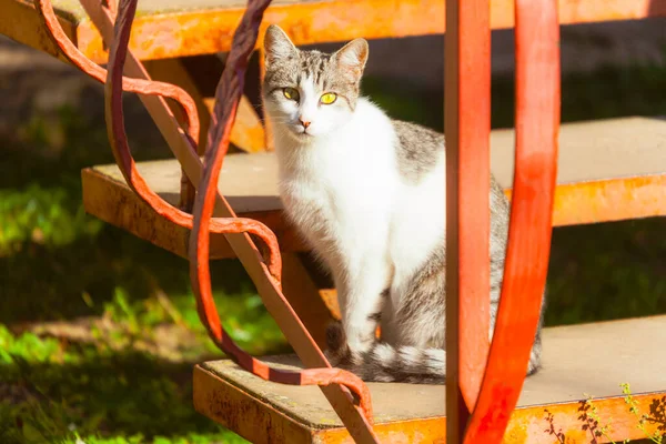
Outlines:
<svg viewBox="0 0 666 444"><path fill-rule="evenodd" d="M0 442L243 442L192 407L193 364L221 353L199 322L188 262L83 212L80 169L113 161L103 122L63 109L54 157L40 121L23 129L29 151L4 144L0 162ZM220 261L212 273L234 340L283 352L242 266ZM74 320L98 322L83 339L52 324Z"/></svg>

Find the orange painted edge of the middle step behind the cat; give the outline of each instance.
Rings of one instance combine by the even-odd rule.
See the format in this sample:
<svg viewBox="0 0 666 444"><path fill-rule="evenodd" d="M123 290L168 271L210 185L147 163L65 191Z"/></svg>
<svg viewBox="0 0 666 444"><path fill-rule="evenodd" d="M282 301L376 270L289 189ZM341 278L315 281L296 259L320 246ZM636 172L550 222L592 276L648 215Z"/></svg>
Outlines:
<svg viewBox="0 0 666 444"><path fill-rule="evenodd" d="M161 218L124 182L110 179L94 167L83 169L81 180L83 206L89 214L186 258L189 230ZM511 199L511 189L505 193ZM662 174L558 184L553 224L566 226L666 215L665 200L666 175ZM110 201L117 204L109 205ZM256 219L270 226L278 235L282 251L309 250L281 210L239 215ZM212 235L211 258L235 258L223 235Z"/></svg>

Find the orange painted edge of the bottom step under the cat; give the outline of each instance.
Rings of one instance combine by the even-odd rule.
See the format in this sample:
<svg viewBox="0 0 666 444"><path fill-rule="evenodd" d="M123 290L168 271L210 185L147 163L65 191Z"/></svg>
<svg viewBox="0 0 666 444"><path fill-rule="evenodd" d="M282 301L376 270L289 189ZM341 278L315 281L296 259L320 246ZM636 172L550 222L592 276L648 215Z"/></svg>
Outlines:
<svg viewBox="0 0 666 444"><path fill-rule="evenodd" d="M253 443L351 442L344 427L311 427L200 365L194 367L193 381L194 408ZM666 403L666 391L638 393L633 397L642 406L642 412L648 413L646 407L652 403ZM512 414L503 442L587 444L593 432L585 428L586 422L581 420L581 415L585 413L585 401L582 397L551 405L521 406ZM638 428L639 418L629 412L624 396L593 398L592 403L597 408L599 428L608 425L608 437L612 440L619 442L647 437ZM656 423L645 423L648 433L655 433L657 426ZM446 438L445 416L375 423L374 428L382 442L443 443ZM562 433L559 441L556 436L558 433ZM599 443L608 442L603 436L597 440Z"/></svg>

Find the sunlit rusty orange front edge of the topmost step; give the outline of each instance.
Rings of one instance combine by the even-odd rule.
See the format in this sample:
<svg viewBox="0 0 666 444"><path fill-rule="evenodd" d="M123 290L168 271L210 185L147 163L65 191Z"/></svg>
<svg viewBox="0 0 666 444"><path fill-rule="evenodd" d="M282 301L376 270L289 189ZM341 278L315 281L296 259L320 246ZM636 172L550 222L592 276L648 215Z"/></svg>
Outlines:
<svg viewBox="0 0 666 444"><path fill-rule="evenodd" d="M563 23L627 20L666 14L664 0L562 0ZM140 18L132 48L144 59L229 51L230 34L242 10L185 11ZM513 27L513 1L493 2L493 28ZM434 0L307 1L274 6L265 23L280 24L295 44L390 38L444 32L444 2ZM176 33L173 33L178 30ZM105 54L92 29L81 28L79 42L95 61ZM153 44L145 44L152 42Z"/></svg>

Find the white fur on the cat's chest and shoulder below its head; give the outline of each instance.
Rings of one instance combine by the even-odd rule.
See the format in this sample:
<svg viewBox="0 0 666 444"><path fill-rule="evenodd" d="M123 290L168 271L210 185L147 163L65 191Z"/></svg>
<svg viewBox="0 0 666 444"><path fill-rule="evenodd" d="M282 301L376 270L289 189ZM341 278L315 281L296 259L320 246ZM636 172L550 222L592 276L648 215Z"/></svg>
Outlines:
<svg viewBox="0 0 666 444"><path fill-rule="evenodd" d="M443 241L444 155L418 184L403 180L393 125L365 100L342 129L309 142L276 134L290 218L332 268L363 273L365 261L385 262L395 293Z"/></svg>

